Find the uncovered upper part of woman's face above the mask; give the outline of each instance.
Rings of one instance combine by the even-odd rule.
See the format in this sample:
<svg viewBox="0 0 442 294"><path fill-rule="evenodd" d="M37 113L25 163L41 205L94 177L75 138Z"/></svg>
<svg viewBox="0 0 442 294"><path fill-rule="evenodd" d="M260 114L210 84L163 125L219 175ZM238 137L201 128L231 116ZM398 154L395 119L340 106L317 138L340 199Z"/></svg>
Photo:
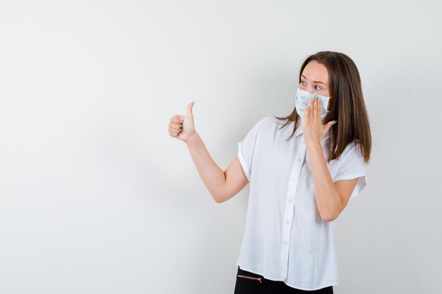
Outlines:
<svg viewBox="0 0 442 294"><path fill-rule="evenodd" d="M304 91L329 97L330 87L328 86L327 68L314 60L307 63L304 71L302 71L299 87Z"/></svg>

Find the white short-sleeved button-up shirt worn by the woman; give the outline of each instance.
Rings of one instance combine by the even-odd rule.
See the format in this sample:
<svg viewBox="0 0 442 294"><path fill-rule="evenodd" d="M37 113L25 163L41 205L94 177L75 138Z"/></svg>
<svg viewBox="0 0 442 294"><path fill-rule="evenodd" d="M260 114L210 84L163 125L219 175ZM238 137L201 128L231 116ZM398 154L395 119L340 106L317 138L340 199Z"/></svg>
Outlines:
<svg viewBox="0 0 442 294"><path fill-rule="evenodd" d="M238 142L238 157L250 182L250 193L237 265L301 290L338 285L334 223L323 221L316 206L302 125L286 141L294 122L280 128L282 123L266 116ZM321 142L325 159L329 135ZM354 143L328 164L333 182L359 178L351 198L366 185L365 168Z"/></svg>

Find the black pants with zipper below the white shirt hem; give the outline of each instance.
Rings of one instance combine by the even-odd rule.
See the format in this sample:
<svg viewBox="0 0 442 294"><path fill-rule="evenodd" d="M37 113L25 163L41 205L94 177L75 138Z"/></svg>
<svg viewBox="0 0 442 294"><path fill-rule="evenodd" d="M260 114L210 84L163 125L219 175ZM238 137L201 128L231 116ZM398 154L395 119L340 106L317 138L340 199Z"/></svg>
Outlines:
<svg viewBox="0 0 442 294"><path fill-rule="evenodd" d="M333 286L318 290L300 290L287 286L283 281L272 281L261 275L244 271L238 267L234 294L333 294Z"/></svg>

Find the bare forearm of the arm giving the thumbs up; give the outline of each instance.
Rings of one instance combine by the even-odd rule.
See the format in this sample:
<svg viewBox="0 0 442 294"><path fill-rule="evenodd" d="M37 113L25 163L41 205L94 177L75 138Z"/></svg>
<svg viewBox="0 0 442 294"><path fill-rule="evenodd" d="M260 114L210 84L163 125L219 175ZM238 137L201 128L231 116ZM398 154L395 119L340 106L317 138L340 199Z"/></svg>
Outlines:
<svg viewBox="0 0 442 294"><path fill-rule="evenodd" d="M225 173L213 161L212 157L205 148L204 142L198 133L194 133L189 140L186 141L193 163L196 166L205 188L212 195L215 202L220 202L222 197L222 188L225 185Z"/></svg>

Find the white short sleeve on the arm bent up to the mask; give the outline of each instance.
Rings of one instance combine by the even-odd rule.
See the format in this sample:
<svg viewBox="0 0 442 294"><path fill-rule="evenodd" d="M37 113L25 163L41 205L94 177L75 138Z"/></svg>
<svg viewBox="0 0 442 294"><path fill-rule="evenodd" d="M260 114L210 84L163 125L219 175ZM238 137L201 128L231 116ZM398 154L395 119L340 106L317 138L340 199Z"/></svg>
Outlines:
<svg viewBox="0 0 442 294"><path fill-rule="evenodd" d="M364 157L362 156L359 145L353 142L351 145L348 145L347 148L348 152L343 152L341 155L342 159L340 160L342 160L342 164L340 164L333 182L358 178L356 187L354 187L352 195L350 196L350 199L352 199L357 197L366 187L366 163L364 162Z"/></svg>

